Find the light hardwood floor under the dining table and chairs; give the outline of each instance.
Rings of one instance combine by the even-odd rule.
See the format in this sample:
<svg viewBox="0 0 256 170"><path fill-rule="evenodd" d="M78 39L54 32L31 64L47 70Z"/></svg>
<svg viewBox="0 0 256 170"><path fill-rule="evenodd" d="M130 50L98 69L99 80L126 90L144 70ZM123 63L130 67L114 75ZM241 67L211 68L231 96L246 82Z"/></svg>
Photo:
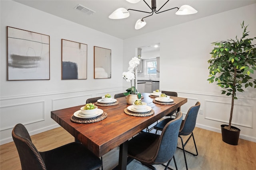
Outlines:
<svg viewBox="0 0 256 170"><path fill-rule="evenodd" d="M220 133L197 127L194 129L194 136L198 156L186 153L189 170L256 170L256 143L239 139L237 146L228 145L222 141ZM31 138L39 151L54 149L74 141L74 137L62 127L32 135ZM194 152L192 140L186 145L186 149ZM117 147L103 156L104 170L111 170L118 164L118 153ZM176 150L175 158L178 169L186 170L182 150ZM13 142L0 146L0 160L0 170L21 170L20 159ZM157 170L164 169L162 165L155 167ZM170 167L175 168L173 161ZM128 164L127 170L148 170L148 168L133 160Z"/></svg>

